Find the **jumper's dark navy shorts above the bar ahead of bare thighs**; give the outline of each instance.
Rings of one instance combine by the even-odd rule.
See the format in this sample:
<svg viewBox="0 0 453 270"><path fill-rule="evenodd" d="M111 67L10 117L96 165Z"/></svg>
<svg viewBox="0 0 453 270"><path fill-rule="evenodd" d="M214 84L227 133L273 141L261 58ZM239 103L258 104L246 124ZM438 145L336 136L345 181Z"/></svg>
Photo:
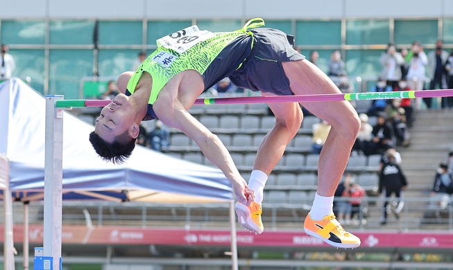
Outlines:
<svg viewBox="0 0 453 270"><path fill-rule="evenodd" d="M252 32L255 37L252 52L241 68L230 75L231 82L252 91L293 95L282 62L303 60L305 56L294 50L287 34L280 30L255 28Z"/></svg>

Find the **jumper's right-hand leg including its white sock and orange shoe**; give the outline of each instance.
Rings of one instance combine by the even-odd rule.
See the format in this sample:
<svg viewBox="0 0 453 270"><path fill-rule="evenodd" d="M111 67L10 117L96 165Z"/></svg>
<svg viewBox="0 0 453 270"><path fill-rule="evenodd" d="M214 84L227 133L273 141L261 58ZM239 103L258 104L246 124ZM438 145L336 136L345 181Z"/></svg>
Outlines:
<svg viewBox="0 0 453 270"><path fill-rule="evenodd" d="M307 60L284 62L284 72L294 94L341 93L330 78ZM355 235L345 232L333 213L334 192L339 184L354 145L360 121L348 101L303 102L312 114L332 127L320 152L318 189L304 222L307 234L332 246L353 248L360 245Z"/></svg>

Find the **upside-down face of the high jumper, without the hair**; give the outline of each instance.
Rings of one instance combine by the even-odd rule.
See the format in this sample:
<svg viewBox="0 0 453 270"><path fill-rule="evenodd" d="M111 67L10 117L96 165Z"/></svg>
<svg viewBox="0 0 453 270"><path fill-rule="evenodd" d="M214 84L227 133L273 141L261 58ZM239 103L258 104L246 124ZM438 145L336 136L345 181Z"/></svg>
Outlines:
<svg viewBox="0 0 453 270"><path fill-rule="evenodd" d="M135 111L130 105L129 97L120 93L109 105L103 107L96 119L94 132L103 140L112 143L116 136L128 131L135 123Z"/></svg>

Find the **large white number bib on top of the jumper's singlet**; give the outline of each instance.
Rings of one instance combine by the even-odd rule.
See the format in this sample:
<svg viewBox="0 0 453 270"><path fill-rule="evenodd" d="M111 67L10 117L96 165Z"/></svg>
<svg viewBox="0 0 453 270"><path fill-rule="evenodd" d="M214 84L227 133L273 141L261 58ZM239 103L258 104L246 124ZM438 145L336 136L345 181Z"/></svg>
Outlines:
<svg viewBox="0 0 453 270"><path fill-rule="evenodd" d="M215 37L214 33L208 30L200 30L198 26L190 26L179 30L171 35L157 39L157 46L169 48L177 53L184 53L192 46Z"/></svg>

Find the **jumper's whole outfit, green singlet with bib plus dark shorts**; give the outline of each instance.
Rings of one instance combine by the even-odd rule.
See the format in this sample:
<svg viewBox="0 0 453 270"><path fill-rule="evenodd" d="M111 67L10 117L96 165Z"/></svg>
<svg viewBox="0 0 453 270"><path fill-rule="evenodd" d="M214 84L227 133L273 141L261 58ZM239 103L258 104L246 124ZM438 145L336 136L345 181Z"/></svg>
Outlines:
<svg viewBox="0 0 453 270"><path fill-rule="evenodd" d="M137 87L143 72L153 78L144 120L157 118L153 103L159 92L176 74L193 69L209 89L225 77L237 87L277 95L291 95L282 62L303 60L293 49L287 34L263 26L263 19L247 22L235 32L212 33L191 26L157 40L157 48L146 58L128 82L126 95ZM253 29L256 28L256 29Z"/></svg>

